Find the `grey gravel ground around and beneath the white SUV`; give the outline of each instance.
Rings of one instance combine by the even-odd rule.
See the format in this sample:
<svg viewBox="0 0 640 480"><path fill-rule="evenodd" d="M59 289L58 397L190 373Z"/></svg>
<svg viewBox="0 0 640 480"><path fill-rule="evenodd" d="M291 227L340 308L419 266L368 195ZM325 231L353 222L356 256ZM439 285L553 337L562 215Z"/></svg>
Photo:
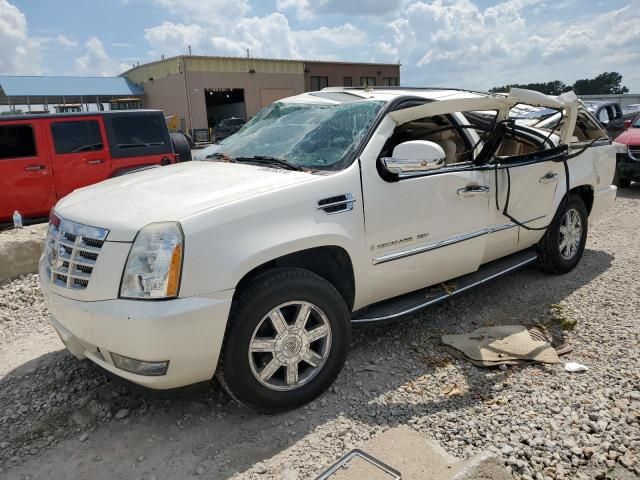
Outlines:
<svg viewBox="0 0 640 480"><path fill-rule="evenodd" d="M141 396L43 348L52 334L36 280L15 280L0 286L0 365L24 345L31 357L0 373L0 477L303 479L406 424L459 457L493 451L516 478L639 478L639 232L636 184L592 227L573 272L531 267L357 330L330 391L274 416L236 406L215 384L185 399ZM589 371L479 369L439 342L483 325L536 323L572 328L563 361Z"/></svg>

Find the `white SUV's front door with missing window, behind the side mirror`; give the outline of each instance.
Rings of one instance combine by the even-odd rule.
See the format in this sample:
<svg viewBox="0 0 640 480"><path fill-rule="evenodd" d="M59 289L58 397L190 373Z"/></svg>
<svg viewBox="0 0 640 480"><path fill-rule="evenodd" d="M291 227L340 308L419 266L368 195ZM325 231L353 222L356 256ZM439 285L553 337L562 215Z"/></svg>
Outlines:
<svg viewBox="0 0 640 480"><path fill-rule="evenodd" d="M473 132L454 128L463 121L456 113L463 105L454 103L448 110L446 103L400 110L400 119L390 114L360 157L371 299L473 272L485 257L490 174L472 163L477 135L470 141L466 137ZM417 176L390 178L381 158L415 141L438 144L445 164Z"/></svg>

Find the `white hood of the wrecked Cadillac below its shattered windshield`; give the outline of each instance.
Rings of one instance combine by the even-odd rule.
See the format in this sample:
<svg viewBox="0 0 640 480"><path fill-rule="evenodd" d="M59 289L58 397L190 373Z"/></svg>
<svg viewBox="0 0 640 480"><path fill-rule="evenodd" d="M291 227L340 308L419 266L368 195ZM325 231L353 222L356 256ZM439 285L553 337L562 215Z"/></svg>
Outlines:
<svg viewBox="0 0 640 480"><path fill-rule="evenodd" d="M153 222L188 215L311 181L310 173L222 162L185 162L112 178L74 191L56 214L107 228L109 241L129 242Z"/></svg>

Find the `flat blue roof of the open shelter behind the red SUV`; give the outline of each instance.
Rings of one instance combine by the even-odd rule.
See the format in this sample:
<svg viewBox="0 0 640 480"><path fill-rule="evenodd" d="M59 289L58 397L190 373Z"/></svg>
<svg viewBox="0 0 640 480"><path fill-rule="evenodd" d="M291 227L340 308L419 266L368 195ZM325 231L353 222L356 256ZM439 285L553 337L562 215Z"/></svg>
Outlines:
<svg viewBox="0 0 640 480"><path fill-rule="evenodd" d="M144 95L124 77L48 77L0 75L0 96L79 97Z"/></svg>

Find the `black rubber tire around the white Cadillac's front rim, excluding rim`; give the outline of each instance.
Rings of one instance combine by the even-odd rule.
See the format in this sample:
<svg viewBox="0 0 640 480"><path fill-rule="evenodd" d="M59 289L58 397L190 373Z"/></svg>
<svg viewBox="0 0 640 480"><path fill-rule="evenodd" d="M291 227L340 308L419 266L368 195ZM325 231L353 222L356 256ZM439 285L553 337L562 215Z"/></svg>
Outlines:
<svg viewBox="0 0 640 480"><path fill-rule="evenodd" d="M265 288L260 288L261 284L266 285ZM342 296L329 282L302 269L274 270L256 279L247 290L251 294L244 296L237 308L232 308L229 318L222 353L226 386L240 402L266 411L288 410L313 400L333 383L351 343L351 318ZM331 326L329 357L307 384L291 391L271 390L251 372L249 342L256 326L270 310L294 300L312 303L326 315Z"/></svg>

